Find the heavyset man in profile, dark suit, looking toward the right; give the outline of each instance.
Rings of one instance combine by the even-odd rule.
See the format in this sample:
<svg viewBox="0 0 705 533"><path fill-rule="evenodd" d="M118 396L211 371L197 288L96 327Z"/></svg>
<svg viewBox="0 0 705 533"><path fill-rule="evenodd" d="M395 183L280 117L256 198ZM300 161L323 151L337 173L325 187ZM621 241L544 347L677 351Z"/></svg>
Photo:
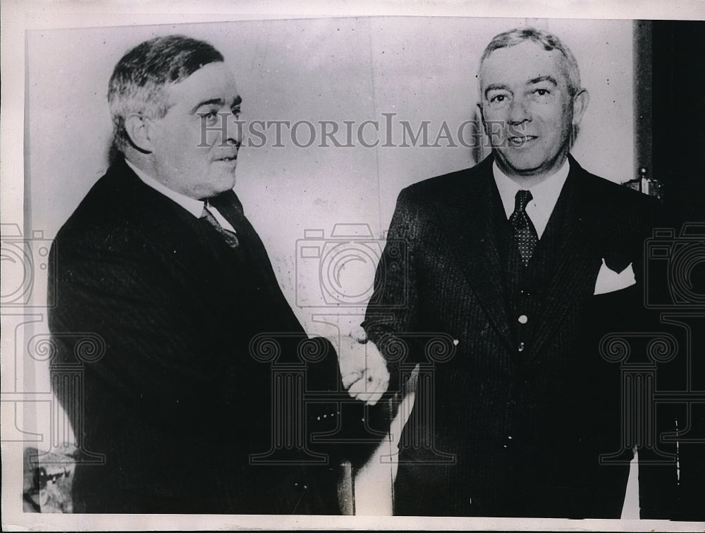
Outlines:
<svg viewBox="0 0 705 533"><path fill-rule="evenodd" d="M80 449L103 458L78 458L74 509L337 513L335 469L306 467L307 441L278 435L288 455L268 460L275 425L298 439L305 413L273 419L287 405L273 405L272 361L255 341L271 336L277 362L297 368L312 341L233 192L240 137L223 118L241 99L223 56L188 37L150 39L118 62L108 99L113 161L50 255L51 364L74 362L82 335L104 345L82 368L78 403L54 384ZM322 362L307 384L337 390L331 346L312 347Z"/></svg>

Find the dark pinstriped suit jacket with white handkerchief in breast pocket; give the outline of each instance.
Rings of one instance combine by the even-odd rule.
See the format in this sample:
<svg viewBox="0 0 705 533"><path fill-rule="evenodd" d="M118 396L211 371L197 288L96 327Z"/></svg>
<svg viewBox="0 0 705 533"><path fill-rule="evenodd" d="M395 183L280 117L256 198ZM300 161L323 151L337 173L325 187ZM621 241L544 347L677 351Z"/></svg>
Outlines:
<svg viewBox="0 0 705 533"><path fill-rule="evenodd" d="M391 221L389 242L404 243L406 261L388 268L400 262L387 246L364 327L393 384L417 362L427 376L401 439L395 513L619 517L628 466L599 455L621 446L620 364L598 343L635 327L657 203L570 159L551 274L520 351L491 166L489 157L411 185ZM614 271L632 263L637 285L594 295L602 259Z"/></svg>

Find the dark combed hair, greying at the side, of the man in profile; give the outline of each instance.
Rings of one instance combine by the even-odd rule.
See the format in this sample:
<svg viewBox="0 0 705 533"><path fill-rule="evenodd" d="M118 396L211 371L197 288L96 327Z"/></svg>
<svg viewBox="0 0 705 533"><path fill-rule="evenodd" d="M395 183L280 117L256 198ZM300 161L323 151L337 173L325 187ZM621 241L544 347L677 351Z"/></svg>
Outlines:
<svg viewBox="0 0 705 533"><path fill-rule="evenodd" d="M163 118L171 107L164 85L188 78L208 63L223 61L212 44L184 35L154 37L128 51L115 66L108 84L113 120L111 153L130 144L125 119L132 114Z"/></svg>

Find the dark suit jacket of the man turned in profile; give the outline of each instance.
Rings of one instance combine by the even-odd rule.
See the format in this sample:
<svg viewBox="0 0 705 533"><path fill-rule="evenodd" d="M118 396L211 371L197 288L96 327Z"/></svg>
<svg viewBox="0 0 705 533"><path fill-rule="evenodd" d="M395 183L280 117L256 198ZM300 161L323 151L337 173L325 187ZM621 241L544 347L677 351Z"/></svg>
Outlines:
<svg viewBox="0 0 705 533"><path fill-rule="evenodd" d="M254 231L248 237L259 242ZM296 348L307 338L264 247L250 245L252 254L233 251L124 160L61 228L50 257L51 369L80 373L73 388L54 378L82 451L76 510L337 512L332 465L250 461L272 448L279 407L271 364L252 357L250 342L272 333L278 362L300 364ZM97 348L82 359L86 338ZM327 364L319 374L336 388L335 354L319 348L333 363L309 365L307 379Z"/></svg>

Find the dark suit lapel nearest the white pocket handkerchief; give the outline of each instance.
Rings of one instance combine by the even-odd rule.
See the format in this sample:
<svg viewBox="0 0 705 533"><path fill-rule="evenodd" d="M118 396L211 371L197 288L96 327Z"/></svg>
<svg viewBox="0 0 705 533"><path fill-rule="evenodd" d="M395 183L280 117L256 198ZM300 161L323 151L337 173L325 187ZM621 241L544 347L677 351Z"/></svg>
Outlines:
<svg viewBox="0 0 705 533"><path fill-rule="evenodd" d="M548 221L549 225L560 223L554 214L560 209L566 213L559 251L553 259L553 274L546 285L541 318L534 332L533 349L529 352L530 358L541 353L541 348L551 339L561 320L572 308L580 305L580 299L591 294L594 288L601 264L599 238L603 235L603 210L599 206L606 199L596 197L596 188L591 187L593 179L596 178L589 176L570 157L570 173Z"/></svg>

